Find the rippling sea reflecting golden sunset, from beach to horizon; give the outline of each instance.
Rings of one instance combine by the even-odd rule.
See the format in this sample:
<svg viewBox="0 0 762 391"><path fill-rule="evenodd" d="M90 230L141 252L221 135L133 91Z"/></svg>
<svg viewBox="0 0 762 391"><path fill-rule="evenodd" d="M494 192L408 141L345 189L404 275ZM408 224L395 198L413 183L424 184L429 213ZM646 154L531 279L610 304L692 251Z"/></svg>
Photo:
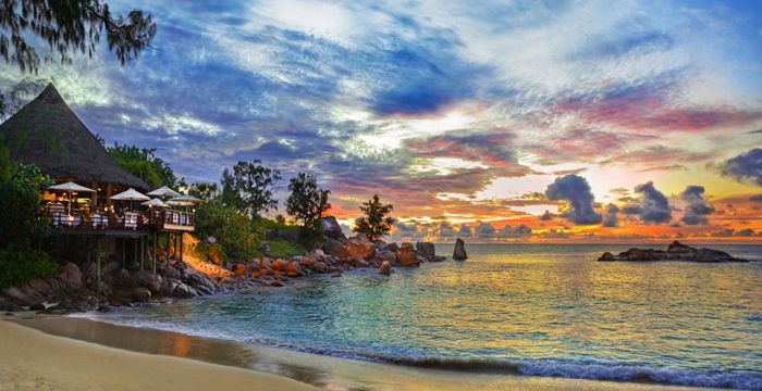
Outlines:
<svg viewBox="0 0 762 391"><path fill-rule="evenodd" d="M468 244L466 262L391 277L353 272L97 317L466 373L762 389L762 245L713 245L755 261L743 264L594 262L626 248Z"/></svg>

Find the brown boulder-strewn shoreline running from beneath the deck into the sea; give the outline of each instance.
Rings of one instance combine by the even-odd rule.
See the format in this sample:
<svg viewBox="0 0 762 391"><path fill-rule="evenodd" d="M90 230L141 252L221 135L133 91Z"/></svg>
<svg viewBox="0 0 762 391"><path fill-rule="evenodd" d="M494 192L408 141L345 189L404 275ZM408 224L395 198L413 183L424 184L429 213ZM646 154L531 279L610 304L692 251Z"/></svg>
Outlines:
<svg viewBox="0 0 762 391"><path fill-rule="evenodd" d="M444 256L437 255L431 242L398 245L381 240L370 241L362 235L345 238L335 224L327 227L321 249L288 260L269 256L253 258L233 264L230 270L212 264L170 260L168 254L162 254L157 262L156 274L123 268L118 261L107 262L101 267L98 285L94 262L59 261L63 266L57 276L0 290L0 311L30 310L50 314L95 310L108 312L113 307L173 298L284 287L297 278L341 276L343 272L352 269L377 269L379 274L389 276L394 273L394 267L417 267L421 263L444 260ZM211 273L209 266L221 273Z"/></svg>

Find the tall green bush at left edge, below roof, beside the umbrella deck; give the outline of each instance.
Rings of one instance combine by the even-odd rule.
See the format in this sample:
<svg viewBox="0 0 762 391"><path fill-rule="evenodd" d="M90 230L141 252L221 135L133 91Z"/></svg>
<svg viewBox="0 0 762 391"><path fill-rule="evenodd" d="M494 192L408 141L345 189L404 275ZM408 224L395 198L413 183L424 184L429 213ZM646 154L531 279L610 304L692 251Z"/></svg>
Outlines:
<svg viewBox="0 0 762 391"><path fill-rule="evenodd" d="M0 143L0 248L28 250L48 235L39 191L50 185L37 166L9 160L8 147Z"/></svg>

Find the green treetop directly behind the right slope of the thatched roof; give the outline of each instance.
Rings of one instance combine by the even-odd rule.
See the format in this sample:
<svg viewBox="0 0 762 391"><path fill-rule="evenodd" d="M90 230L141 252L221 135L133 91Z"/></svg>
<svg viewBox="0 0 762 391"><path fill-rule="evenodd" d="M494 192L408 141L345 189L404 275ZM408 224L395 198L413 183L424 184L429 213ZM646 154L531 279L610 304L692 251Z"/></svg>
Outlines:
<svg viewBox="0 0 762 391"><path fill-rule="evenodd" d="M156 149L137 148L135 146L120 146L107 148L109 155L116 161L122 168L132 175L143 179L151 188L169 186L176 189L179 181L174 172L167 162L158 157Z"/></svg>

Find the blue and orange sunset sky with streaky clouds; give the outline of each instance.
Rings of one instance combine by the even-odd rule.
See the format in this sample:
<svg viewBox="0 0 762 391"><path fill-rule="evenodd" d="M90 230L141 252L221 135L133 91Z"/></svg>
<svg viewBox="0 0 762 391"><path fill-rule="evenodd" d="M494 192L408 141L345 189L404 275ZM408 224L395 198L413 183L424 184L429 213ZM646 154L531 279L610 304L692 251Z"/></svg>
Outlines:
<svg viewBox="0 0 762 391"><path fill-rule="evenodd" d="M308 172L403 239L762 241L762 2L109 3L155 49L39 76L189 181Z"/></svg>

